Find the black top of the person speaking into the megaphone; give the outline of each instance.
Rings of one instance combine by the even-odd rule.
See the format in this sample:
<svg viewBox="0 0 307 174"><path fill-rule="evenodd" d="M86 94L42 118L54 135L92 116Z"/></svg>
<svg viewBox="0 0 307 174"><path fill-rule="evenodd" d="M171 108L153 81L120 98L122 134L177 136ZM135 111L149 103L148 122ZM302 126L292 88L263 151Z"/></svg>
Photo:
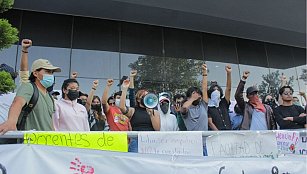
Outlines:
<svg viewBox="0 0 307 174"><path fill-rule="evenodd" d="M133 131L154 131L146 108L135 107L130 123Z"/></svg>

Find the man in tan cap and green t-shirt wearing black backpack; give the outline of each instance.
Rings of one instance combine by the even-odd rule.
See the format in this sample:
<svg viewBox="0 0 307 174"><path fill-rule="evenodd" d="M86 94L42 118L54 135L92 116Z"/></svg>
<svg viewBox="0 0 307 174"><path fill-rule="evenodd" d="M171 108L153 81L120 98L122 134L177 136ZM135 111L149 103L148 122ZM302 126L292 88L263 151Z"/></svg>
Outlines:
<svg viewBox="0 0 307 174"><path fill-rule="evenodd" d="M0 124L0 134L16 130L16 124L25 118L23 130L51 131L54 101L49 95L47 88L54 84L54 72L61 72L59 67L53 66L46 59L35 60L32 64L30 83L23 83L18 88L16 97L10 107L8 120ZM36 88L38 93L36 93ZM34 95L33 95L34 94ZM37 94L37 97L34 97ZM34 99L37 98L36 102ZM30 104L29 104L30 103ZM26 117L23 117L23 107L29 104L32 109ZM18 122L19 120L19 122Z"/></svg>

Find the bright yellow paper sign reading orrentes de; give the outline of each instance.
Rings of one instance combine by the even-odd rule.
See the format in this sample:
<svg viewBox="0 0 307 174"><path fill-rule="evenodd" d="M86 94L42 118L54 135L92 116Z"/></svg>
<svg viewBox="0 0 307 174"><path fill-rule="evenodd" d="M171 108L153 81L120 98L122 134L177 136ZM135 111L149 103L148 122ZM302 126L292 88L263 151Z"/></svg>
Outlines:
<svg viewBox="0 0 307 174"><path fill-rule="evenodd" d="M127 133L125 132L31 132L24 134L24 144L128 151Z"/></svg>

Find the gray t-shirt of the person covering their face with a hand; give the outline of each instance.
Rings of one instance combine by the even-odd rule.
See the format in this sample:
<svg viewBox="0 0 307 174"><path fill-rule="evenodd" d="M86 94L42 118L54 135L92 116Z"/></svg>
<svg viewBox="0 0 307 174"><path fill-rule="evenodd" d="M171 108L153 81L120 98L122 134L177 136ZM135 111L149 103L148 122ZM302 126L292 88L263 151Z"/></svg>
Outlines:
<svg viewBox="0 0 307 174"><path fill-rule="evenodd" d="M203 100L197 105L191 105L188 112L183 116L187 131L208 130L208 104Z"/></svg>

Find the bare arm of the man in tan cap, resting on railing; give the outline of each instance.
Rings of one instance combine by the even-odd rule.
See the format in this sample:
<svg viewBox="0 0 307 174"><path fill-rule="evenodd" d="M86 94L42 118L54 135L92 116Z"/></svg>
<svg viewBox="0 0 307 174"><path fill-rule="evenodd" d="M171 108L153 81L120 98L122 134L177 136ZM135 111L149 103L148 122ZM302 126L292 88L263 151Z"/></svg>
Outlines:
<svg viewBox="0 0 307 174"><path fill-rule="evenodd" d="M16 130L16 124L20 115L22 107L26 104L26 100L22 97L15 97L8 115L8 120L0 125L0 134L7 131Z"/></svg>

